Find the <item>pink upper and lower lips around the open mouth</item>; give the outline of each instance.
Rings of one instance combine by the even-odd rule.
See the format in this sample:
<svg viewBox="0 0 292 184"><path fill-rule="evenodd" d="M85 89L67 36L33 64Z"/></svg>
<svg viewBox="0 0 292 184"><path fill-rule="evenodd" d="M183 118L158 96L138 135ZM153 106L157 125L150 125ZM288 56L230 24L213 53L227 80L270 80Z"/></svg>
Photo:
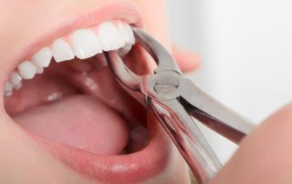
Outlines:
<svg viewBox="0 0 292 184"><path fill-rule="evenodd" d="M27 56L31 56L41 46L46 46L58 36L68 34L70 31L80 27L98 25L112 19L121 19L134 26L141 26L141 15L135 5L130 1L111 2L88 14L78 15L63 24L52 27L51 30L40 36L36 42L26 46L23 55L17 58L16 61L19 62ZM150 144L141 151L120 156L92 154L84 150L57 144L31 133L28 134L68 167L91 179L110 183L137 183L161 174L172 158L172 143L169 138L161 131L157 122L149 124L151 132Z"/></svg>

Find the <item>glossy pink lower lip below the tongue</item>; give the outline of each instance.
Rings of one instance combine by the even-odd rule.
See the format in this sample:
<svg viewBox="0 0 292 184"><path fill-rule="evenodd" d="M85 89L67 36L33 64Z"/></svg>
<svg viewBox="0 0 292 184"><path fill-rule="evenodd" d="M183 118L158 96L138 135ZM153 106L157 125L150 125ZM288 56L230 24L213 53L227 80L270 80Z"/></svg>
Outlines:
<svg viewBox="0 0 292 184"><path fill-rule="evenodd" d="M129 155L97 155L28 134L70 168L90 179L106 183L136 183L159 176L172 158L170 139L158 122L149 124L149 145Z"/></svg>

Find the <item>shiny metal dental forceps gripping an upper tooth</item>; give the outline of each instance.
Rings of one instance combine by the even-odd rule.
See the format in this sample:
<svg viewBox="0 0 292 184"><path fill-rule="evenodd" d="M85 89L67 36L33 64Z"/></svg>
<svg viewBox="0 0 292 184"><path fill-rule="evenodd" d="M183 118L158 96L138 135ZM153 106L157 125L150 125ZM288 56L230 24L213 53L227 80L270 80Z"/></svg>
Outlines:
<svg viewBox="0 0 292 184"><path fill-rule="evenodd" d="M204 183L222 167L197 123L238 144L254 124L225 107L193 82L183 77L166 49L145 31L133 28L136 42L155 60L157 68L148 75L137 75L126 66L118 51L105 54L110 68L128 92L143 97L148 111L154 112L178 148L194 177ZM133 91L136 94L133 95Z"/></svg>

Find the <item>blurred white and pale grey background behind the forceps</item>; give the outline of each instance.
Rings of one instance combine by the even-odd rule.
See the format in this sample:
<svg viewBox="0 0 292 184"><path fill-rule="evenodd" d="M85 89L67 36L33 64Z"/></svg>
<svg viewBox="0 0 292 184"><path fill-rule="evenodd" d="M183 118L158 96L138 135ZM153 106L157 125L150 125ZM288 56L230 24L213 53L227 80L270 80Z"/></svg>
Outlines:
<svg viewBox="0 0 292 184"><path fill-rule="evenodd" d="M292 1L167 2L172 39L203 58L199 87L257 124L291 101ZM206 134L226 161L235 145Z"/></svg>

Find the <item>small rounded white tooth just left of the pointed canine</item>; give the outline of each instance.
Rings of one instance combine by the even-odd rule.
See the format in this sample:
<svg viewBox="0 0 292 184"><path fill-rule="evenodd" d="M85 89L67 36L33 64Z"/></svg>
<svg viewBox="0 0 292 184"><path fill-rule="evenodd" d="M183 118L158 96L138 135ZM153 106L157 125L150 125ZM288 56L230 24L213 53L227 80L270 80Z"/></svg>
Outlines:
<svg viewBox="0 0 292 184"><path fill-rule="evenodd" d="M30 61L24 61L19 66L17 66L19 76L24 79L31 79L36 75L36 66Z"/></svg>

